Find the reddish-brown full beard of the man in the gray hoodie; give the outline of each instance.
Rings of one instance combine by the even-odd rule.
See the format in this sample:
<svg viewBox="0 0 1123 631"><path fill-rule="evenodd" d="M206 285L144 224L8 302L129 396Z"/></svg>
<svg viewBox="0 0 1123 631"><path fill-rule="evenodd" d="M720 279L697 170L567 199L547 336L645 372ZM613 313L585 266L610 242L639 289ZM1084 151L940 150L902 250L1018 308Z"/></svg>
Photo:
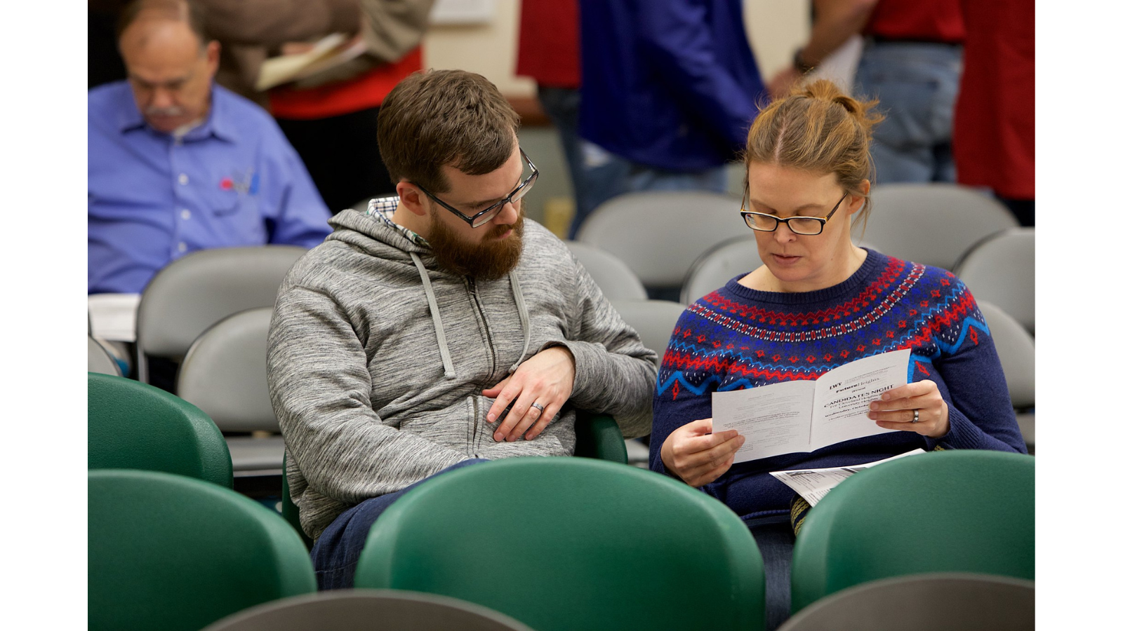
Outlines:
<svg viewBox="0 0 1123 631"><path fill-rule="evenodd" d="M437 264L448 272L474 276L481 281L494 281L504 276L519 264L522 254L522 211L519 220L504 226L483 226L475 230L486 230L487 236L480 245L467 244L457 238L456 232L445 223L444 210L433 217L429 229L429 246L437 257ZM458 221L458 220L457 220ZM495 237L512 231L503 240Z"/></svg>

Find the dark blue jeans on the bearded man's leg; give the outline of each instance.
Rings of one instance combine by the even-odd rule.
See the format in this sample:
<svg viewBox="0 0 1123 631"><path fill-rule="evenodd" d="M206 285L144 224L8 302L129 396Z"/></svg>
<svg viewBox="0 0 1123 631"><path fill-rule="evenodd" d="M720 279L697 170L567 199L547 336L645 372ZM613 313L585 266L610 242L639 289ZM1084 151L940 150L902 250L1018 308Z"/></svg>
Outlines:
<svg viewBox="0 0 1123 631"><path fill-rule="evenodd" d="M442 473L486 461L482 458L472 458L457 463L401 491L371 497L347 509L323 530L312 546L312 566L316 568L316 583L319 588L348 589L355 586L355 568L358 566L358 556L366 546L366 536L371 532L374 520L399 497Z"/></svg>

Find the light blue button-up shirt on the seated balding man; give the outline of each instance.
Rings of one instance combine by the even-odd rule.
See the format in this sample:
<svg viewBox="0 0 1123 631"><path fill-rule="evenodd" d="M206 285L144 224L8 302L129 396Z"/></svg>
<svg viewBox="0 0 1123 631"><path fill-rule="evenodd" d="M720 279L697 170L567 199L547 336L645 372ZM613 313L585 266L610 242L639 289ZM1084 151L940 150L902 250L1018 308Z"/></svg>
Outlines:
<svg viewBox="0 0 1123 631"><path fill-rule="evenodd" d="M313 247L331 216L276 122L214 85L182 138L150 128L121 81L89 92L89 293L139 293L198 249Z"/></svg>

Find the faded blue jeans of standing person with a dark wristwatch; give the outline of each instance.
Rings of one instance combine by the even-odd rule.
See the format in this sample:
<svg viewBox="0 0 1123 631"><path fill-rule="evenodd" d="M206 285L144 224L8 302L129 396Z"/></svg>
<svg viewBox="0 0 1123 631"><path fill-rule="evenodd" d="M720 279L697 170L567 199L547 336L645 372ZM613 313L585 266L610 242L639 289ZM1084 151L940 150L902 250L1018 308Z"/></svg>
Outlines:
<svg viewBox="0 0 1123 631"><path fill-rule="evenodd" d="M874 128L877 182L955 182L951 118L962 47L867 42L855 72L856 95L876 98L885 120Z"/></svg>

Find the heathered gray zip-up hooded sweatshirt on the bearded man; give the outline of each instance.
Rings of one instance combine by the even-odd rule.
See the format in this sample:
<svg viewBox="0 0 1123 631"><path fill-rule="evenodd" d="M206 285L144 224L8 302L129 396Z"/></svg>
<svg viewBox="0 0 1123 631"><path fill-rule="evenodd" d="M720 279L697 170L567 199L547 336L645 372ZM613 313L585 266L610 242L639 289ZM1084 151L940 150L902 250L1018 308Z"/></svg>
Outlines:
<svg viewBox="0 0 1123 631"><path fill-rule="evenodd" d="M656 354L569 249L526 220L519 265L496 281L437 267L431 250L354 210L289 272L270 327L268 384L289 485L313 539L348 507L468 458L572 456L575 410L651 430ZM576 372L533 440L495 442L481 391L550 346Z"/></svg>

